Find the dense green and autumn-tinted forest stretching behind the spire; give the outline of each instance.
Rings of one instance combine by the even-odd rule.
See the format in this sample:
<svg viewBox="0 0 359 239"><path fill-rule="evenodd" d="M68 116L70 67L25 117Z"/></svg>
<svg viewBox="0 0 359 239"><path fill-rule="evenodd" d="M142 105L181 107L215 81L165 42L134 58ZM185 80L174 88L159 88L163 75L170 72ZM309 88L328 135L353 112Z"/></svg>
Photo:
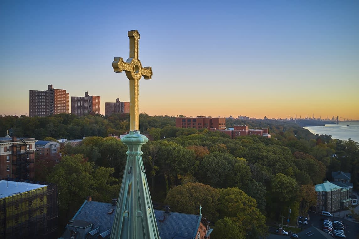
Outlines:
<svg viewBox="0 0 359 239"><path fill-rule="evenodd" d="M154 139L142 147L151 198L154 205L189 214L199 214L201 205L215 229L211 238L258 238L289 208L291 218L306 214L316 205L314 184L331 180L332 171L350 172L358 189L359 144L353 140L313 135L285 121L227 119L227 127L269 128L271 134L229 139L207 129L176 128L175 118L140 114L141 133ZM128 132L128 114L0 117L0 133L9 129L37 140L85 137L79 146L65 144L55 167L36 161L42 167L36 180L58 185L59 228L88 195L103 202L118 197L127 146L106 136Z"/></svg>

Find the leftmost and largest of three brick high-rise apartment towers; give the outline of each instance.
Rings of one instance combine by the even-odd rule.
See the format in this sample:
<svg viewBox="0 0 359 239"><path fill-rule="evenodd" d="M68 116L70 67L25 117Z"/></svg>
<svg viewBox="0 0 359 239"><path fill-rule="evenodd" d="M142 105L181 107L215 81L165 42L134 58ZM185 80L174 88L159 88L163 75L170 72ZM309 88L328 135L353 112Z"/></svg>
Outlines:
<svg viewBox="0 0 359 239"><path fill-rule="evenodd" d="M66 90L53 89L29 91L29 116L49 116L69 113L69 93Z"/></svg>

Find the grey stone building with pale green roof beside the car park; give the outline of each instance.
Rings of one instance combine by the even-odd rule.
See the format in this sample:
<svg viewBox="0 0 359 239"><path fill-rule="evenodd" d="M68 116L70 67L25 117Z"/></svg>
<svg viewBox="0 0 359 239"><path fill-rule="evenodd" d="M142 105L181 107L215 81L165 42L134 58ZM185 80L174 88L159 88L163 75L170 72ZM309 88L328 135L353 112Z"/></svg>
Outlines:
<svg viewBox="0 0 359 239"><path fill-rule="evenodd" d="M317 192L317 212L334 212L351 204L349 189L339 187L329 181L315 185L315 191Z"/></svg>

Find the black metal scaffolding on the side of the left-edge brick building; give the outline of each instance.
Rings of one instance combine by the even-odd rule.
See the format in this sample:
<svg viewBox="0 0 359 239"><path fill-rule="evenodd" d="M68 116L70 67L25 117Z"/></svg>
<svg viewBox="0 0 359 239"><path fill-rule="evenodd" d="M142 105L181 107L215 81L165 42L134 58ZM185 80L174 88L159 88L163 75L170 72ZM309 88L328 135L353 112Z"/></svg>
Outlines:
<svg viewBox="0 0 359 239"><path fill-rule="evenodd" d="M12 162L13 174L15 178L31 180L34 178L34 151L30 150L30 146L26 144L25 140L20 139L23 145L13 145L12 147Z"/></svg>

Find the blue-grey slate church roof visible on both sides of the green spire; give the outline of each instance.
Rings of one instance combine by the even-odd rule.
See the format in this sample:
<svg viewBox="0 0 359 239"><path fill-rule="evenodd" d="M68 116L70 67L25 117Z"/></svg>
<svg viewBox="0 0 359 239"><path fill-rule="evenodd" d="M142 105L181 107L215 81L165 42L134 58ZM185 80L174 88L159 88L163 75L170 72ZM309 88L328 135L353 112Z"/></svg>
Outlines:
<svg viewBox="0 0 359 239"><path fill-rule="evenodd" d="M109 210L113 209L111 214ZM201 215L184 214L179 212L169 212L166 214L161 210L154 210L155 218L162 239L192 239L196 236L201 222ZM112 223L116 215L116 206L112 203L85 201L75 216L70 220L69 225L76 221L85 221L92 225L92 234L101 233L108 235L112 229ZM161 219L161 221L159 221ZM98 228L98 230L96 230ZM96 230L96 232L94 231ZM61 238L67 238L67 233Z"/></svg>

